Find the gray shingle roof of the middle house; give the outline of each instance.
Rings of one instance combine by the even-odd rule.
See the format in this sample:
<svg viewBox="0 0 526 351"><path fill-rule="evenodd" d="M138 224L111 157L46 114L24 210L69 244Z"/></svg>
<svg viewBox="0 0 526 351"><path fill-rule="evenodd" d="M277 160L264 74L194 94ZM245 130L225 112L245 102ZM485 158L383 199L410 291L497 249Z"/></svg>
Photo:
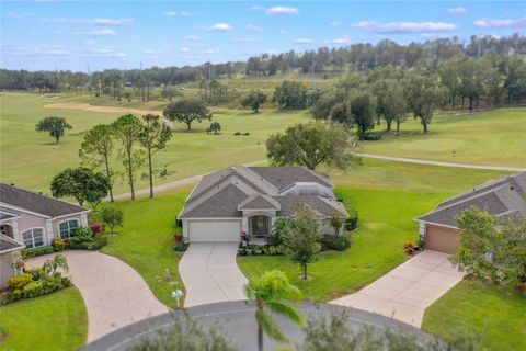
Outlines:
<svg viewBox="0 0 526 351"><path fill-rule="evenodd" d="M333 199L317 195L279 195L279 189L296 182L316 182L332 189L331 180L300 167L231 167L204 176L185 203L179 218L241 217L239 210L276 210L279 216L293 216L301 202L309 203L321 216L345 208Z"/></svg>

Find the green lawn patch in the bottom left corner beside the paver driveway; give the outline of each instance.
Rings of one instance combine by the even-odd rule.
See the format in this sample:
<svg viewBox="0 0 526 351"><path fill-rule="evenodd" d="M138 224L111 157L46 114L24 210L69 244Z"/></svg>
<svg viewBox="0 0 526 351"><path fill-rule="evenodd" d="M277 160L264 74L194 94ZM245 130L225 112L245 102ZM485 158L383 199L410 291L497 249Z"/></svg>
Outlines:
<svg viewBox="0 0 526 351"><path fill-rule="evenodd" d="M88 336L88 313L76 287L3 306L1 317L5 351L73 351Z"/></svg>

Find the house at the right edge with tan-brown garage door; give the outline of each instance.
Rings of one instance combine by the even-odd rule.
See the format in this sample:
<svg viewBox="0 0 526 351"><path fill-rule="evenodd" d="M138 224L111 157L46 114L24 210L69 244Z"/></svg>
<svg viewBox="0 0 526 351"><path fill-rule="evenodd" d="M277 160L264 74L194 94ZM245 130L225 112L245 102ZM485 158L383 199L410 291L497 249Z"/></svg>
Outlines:
<svg viewBox="0 0 526 351"><path fill-rule="evenodd" d="M418 217L420 235L431 250L453 253L459 228L457 217L469 207L481 208L498 218L526 219L526 173L490 181L446 200L438 207Z"/></svg>

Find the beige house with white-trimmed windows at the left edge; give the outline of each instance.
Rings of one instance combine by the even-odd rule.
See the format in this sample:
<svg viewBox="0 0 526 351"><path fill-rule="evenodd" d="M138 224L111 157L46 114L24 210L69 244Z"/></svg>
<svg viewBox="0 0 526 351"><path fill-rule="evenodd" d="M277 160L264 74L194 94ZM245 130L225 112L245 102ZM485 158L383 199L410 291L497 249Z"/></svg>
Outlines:
<svg viewBox="0 0 526 351"><path fill-rule="evenodd" d="M25 248L52 245L88 226L89 210L42 193L0 183L0 234Z"/></svg>

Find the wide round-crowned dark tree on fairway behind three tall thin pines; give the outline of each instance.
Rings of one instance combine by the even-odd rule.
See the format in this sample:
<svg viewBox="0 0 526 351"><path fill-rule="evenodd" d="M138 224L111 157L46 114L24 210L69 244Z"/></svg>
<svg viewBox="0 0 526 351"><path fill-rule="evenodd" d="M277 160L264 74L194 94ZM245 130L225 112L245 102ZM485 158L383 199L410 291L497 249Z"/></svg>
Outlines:
<svg viewBox="0 0 526 351"><path fill-rule="evenodd" d="M162 114L170 121L185 123L187 131L192 128L192 122L211 120L211 113L205 103L196 99L181 99L168 104Z"/></svg>

